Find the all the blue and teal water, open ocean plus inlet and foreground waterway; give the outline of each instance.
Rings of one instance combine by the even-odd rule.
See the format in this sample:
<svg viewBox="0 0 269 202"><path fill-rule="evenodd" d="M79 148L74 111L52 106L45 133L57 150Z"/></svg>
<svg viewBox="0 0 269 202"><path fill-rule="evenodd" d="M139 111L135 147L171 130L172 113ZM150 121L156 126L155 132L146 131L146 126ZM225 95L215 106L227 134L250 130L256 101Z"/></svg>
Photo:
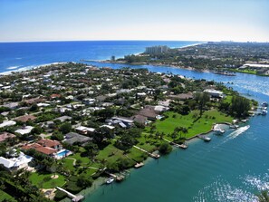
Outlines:
<svg viewBox="0 0 269 202"><path fill-rule="evenodd" d="M0 43L0 72L80 60L103 60L141 53L146 46L166 44L182 47L197 42L47 42ZM235 77L196 72L167 66L91 63L118 69L148 68L151 72L172 72L189 78L224 82L235 91L259 102L269 102L269 78L236 73ZM251 118L239 130L222 136L211 134L209 143L189 142L186 150L174 149L159 160L149 160L132 170L120 184L102 186L86 196L86 202L234 202L256 201L255 194L269 188L269 115Z"/></svg>

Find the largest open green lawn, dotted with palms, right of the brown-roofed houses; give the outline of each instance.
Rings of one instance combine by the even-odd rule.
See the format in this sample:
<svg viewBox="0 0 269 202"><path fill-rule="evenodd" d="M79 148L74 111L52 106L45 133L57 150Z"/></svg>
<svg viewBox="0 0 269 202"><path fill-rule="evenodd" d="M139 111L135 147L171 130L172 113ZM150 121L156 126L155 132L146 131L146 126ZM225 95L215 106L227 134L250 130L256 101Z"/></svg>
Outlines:
<svg viewBox="0 0 269 202"><path fill-rule="evenodd" d="M231 122L232 117L216 111L205 111L200 119L195 121L199 111L192 111L188 115L180 115L175 112L169 111L166 120L157 120L155 122L156 130L164 132L165 137L169 139L168 133L172 133L176 127L187 128L187 134L182 134L182 137L191 138L199 133L211 130L212 125L217 122Z"/></svg>

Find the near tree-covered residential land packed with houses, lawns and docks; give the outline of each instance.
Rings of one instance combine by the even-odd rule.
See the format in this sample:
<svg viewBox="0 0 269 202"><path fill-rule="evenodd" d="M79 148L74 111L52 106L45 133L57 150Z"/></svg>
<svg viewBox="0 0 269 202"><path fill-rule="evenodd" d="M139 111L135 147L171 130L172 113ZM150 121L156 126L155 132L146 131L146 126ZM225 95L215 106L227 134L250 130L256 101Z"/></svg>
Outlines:
<svg viewBox="0 0 269 202"><path fill-rule="evenodd" d="M80 201L95 179L123 180L147 158L187 149L187 139L208 140L217 123L236 128L257 107L219 82L84 63L14 72L0 85L0 186L8 201Z"/></svg>

